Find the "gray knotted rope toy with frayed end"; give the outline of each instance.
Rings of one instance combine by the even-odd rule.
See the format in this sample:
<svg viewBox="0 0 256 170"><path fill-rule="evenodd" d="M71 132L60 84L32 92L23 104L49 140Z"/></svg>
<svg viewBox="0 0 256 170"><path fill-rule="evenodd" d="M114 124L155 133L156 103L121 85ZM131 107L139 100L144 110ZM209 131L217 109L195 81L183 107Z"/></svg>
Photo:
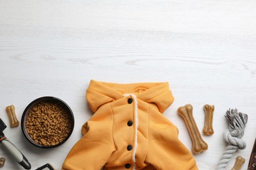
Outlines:
<svg viewBox="0 0 256 170"><path fill-rule="evenodd" d="M248 118L247 114L238 112L237 109L229 109L226 111L225 118L229 126L228 129L224 131L223 137L224 140L228 142L228 146L226 146L226 150L219 161L218 170L224 170L234 152L246 147L245 141L241 138L244 136L244 129Z"/></svg>

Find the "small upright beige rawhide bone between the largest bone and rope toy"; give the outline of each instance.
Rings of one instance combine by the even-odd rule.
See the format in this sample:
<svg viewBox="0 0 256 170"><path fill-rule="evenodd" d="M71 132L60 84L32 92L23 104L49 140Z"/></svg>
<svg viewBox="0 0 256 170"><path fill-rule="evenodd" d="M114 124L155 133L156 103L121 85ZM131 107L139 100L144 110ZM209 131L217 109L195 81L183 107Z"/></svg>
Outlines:
<svg viewBox="0 0 256 170"><path fill-rule="evenodd" d="M205 113L204 116L204 126L203 126L203 135L213 135L213 112L214 112L214 105L204 105L203 110Z"/></svg>

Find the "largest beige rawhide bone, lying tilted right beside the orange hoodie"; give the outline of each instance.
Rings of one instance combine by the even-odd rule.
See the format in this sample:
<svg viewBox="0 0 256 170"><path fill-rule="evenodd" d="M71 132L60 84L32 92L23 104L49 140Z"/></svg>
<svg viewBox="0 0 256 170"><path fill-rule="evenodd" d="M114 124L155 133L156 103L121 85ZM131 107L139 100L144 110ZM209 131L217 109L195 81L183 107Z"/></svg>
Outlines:
<svg viewBox="0 0 256 170"><path fill-rule="evenodd" d="M184 105L184 107L179 107L178 114L182 116L188 129L190 139L192 140L192 152L194 154L200 154L202 151L207 150L208 145L205 143L205 141L203 141L200 135L192 110L192 105Z"/></svg>

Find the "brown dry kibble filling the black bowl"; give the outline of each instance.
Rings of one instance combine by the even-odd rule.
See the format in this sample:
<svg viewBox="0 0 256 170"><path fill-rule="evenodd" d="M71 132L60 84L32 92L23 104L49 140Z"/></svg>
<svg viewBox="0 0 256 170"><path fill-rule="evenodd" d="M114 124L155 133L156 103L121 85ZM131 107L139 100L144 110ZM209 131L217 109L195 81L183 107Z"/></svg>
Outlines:
<svg viewBox="0 0 256 170"><path fill-rule="evenodd" d="M54 146L70 133L71 119L62 105L42 101L28 113L26 127L35 143Z"/></svg>

